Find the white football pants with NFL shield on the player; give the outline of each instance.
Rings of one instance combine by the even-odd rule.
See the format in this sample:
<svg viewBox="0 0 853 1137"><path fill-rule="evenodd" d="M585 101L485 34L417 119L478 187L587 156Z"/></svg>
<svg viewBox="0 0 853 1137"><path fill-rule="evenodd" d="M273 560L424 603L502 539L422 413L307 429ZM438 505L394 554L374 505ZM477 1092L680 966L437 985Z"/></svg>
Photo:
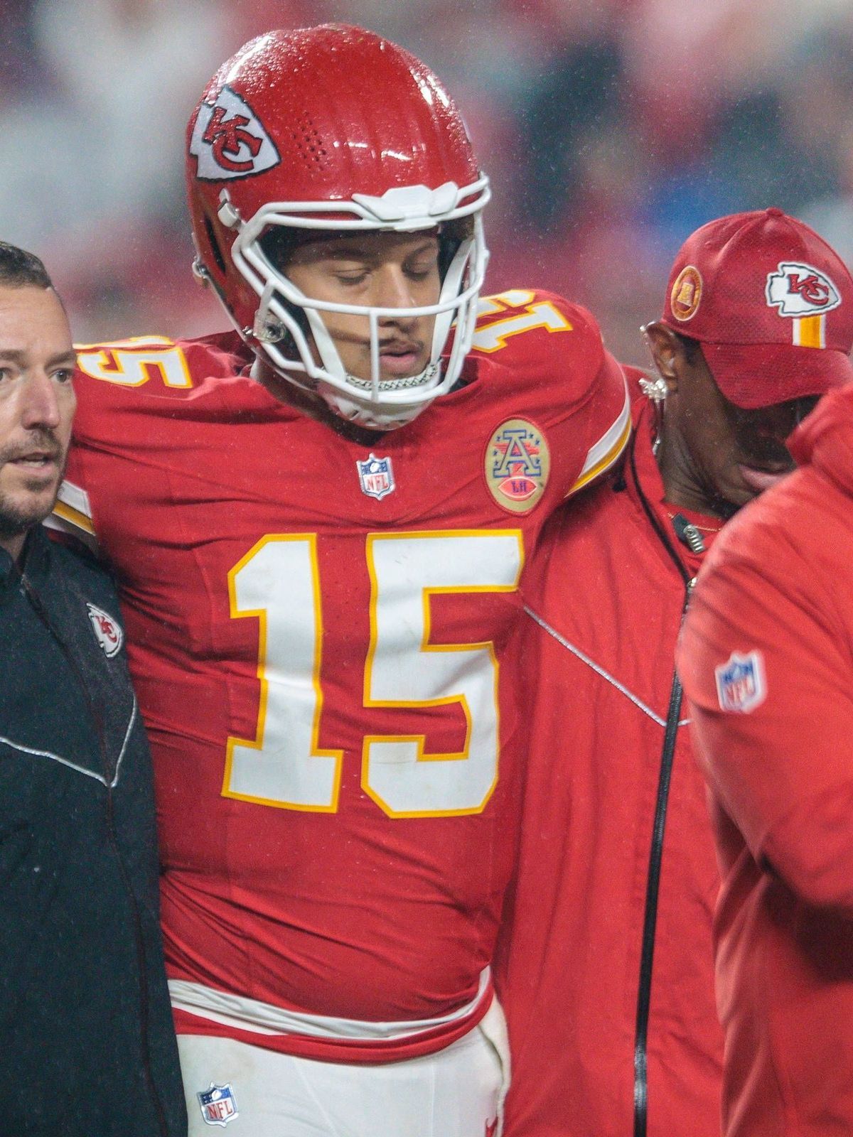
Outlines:
<svg viewBox="0 0 853 1137"><path fill-rule="evenodd" d="M315 1062L205 1035L179 1035L177 1045L189 1137L500 1134L510 1059L497 1001L444 1051L382 1065ZM227 1089L212 1101L212 1085Z"/></svg>

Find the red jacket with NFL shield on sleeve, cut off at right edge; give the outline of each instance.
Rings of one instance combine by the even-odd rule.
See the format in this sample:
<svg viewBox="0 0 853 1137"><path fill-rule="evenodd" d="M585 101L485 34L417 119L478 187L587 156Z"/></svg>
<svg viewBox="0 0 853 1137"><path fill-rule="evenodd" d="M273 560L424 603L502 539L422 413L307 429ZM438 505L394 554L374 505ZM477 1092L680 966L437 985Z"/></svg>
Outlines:
<svg viewBox="0 0 853 1137"><path fill-rule="evenodd" d="M679 654L723 871L727 1137L853 1132L853 390L789 447L803 468L727 526Z"/></svg>

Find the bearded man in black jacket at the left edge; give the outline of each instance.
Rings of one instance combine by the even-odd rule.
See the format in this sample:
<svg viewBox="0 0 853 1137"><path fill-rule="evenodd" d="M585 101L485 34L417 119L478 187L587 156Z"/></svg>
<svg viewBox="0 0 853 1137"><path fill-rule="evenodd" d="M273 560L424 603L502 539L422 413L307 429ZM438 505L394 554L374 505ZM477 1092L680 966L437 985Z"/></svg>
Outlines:
<svg viewBox="0 0 853 1137"><path fill-rule="evenodd" d="M180 1137L151 771L118 603L40 524L73 371L43 265L0 243L0 1135Z"/></svg>

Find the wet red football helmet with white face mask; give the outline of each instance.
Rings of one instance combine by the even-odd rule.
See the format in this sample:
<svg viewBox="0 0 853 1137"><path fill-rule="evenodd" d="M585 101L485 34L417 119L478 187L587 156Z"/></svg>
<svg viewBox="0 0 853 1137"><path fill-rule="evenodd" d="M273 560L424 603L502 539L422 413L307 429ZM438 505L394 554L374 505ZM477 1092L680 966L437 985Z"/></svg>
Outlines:
<svg viewBox="0 0 853 1137"><path fill-rule="evenodd" d="M453 387L474 330L490 191L455 105L428 67L358 27L270 32L216 73L187 146L196 272L279 374L379 430L409 422ZM270 234L288 230L437 230L439 300L389 309L312 299L270 255ZM323 312L370 318L371 380L346 372ZM378 321L400 312L436 316L431 362L421 375L380 380Z"/></svg>

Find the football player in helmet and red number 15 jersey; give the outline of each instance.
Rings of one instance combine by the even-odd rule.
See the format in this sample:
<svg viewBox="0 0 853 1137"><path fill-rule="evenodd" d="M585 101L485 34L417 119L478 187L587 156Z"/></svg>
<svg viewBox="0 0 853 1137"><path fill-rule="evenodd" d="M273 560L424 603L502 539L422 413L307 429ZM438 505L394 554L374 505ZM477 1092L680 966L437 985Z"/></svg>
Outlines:
<svg viewBox="0 0 853 1137"><path fill-rule="evenodd" d="M271 32L188 127L235 329L83 348L59 514L123 591L191 1134L486 1137L525 557L629 430L587 312L479 299L489 183L438 78Z"/></svg>

